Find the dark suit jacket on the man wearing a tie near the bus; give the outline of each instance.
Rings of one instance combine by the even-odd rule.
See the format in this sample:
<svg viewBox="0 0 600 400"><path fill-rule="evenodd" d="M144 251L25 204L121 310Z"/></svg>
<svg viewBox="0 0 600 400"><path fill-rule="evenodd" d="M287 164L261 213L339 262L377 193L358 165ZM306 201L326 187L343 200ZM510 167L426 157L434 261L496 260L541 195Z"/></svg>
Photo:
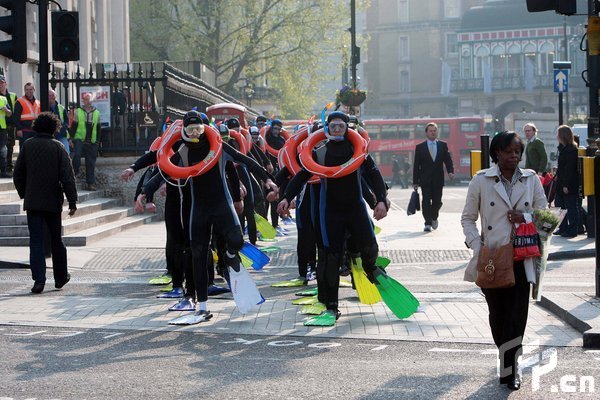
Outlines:
<svg viewBox="0 0 600 400"><path fill-rule="evenodd" d="M449 174L454 173L454 164L448 151L448 144L441 140L437 142L435 161L431 159L427 141L419 143L415 148L415 163L413 167L413 184L420 186L444 186L444 164Z"/></svg>

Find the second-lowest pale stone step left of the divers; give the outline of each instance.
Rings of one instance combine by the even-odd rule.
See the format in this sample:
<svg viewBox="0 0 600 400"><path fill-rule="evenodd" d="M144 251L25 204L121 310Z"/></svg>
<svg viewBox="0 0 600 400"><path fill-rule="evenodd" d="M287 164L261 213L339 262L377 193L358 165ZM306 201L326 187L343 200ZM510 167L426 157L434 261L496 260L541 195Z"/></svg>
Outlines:
<svg viewBox="0 0 600 400"><path fill-rule="evenodd" d="M127 207L113 207L100 210L88 215L67 218L63 220L63 235L69 235L85 229L118 221L133 214L133 209ZM29 236L27 225L0 226L0 237L26 237Z"/></svg>

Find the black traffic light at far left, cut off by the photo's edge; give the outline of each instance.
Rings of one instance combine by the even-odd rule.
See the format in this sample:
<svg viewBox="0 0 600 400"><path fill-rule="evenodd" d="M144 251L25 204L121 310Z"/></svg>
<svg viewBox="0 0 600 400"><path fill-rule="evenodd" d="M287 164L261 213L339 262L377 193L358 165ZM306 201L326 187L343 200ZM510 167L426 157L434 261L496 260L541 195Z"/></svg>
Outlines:
<svg viewBox="0 0 600 400"><path fill-rule="evenodd" d="M0 0L0 7L10 15L0 17L0 30L11 39L0 42L0 54L14 62L27 62L27 2L23 0Z"/></svg>

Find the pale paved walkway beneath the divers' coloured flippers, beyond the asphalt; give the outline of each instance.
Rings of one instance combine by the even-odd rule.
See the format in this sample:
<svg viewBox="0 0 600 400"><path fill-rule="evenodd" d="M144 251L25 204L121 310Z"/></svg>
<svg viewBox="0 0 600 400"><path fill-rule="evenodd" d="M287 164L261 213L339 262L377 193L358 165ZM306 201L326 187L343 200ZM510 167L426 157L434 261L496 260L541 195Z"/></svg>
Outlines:
<svg viewBox="0 0 600 400"><path fill-rule="evenodd" d="M387 218L377 222L380 252L390 258L391 276L402 281L402 271L421 266L448 266L462 271L471 253L466 249L459 214L441 213L440 228L422 231L420 216L407 217L394 204ZM266 302L250 314L241 315L231 295L209 299L214 318L194 326L178 327L168 321L183 315L168 312L173 301L157 299L158 289L147 285L150 277L165 268L165 228L162 222L149 223L86 247L69 247L71 282L62 291L54 290L49 279L42 295L29 293L31 287L26 247L0 251L0 325L48 326L64 328L101 328L110 330L228 332L267 336L344 337L356 339L438 341L492 344L487 305L474 284L461 282L452 292L419 290L408 282L421 302L421 309L410 318L398 320L378 303L360 304L350 288L340 289L342 317L331 328L308 328L306 316L291 304L297 289L274 289L276 281L297 275L296 235L293 225L282 225L288 236L274 243L279 251L269 253L271 263L262 271L252 271ZM594 241L580 236L567 240L554 238L553 257L576 258L594 252ZM559 257L559 258L560 258ZM51 262L49 262L51 264ZM462 273L461 273L462 275ZM425 278L427 279L427 278ZM443 277L442 277L443 279ZM2 283L11 283L4 285ZM95 290L81 293L79 285ZM311 282L313 285L314 282ZM118 287L107 296L105 288ZM4 289L7 288L7 289ZM531 303L525 343L548 346L599 347L600 302L586 293L548 293L540 303Z"/></svg>

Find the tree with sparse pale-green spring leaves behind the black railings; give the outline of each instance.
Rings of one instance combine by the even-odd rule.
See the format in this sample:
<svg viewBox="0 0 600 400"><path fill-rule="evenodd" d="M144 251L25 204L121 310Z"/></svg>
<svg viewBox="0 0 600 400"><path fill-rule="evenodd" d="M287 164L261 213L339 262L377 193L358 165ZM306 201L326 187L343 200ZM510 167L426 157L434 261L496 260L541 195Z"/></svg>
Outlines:
<svg viewBox="0 0 600 400"><path fill-rule="evenodd" d="M349 42L343 0L151 0L156 12L148 3L131 3L132 54L200 60L215 72L217 86L234 95L248 82L278 89L288 115L305 116L315 99L325 97L320 86L332 79L326 71L340 70ZM170 18L157 20L156 13ZM144 18L153 22L133 23Z"/></svg>

